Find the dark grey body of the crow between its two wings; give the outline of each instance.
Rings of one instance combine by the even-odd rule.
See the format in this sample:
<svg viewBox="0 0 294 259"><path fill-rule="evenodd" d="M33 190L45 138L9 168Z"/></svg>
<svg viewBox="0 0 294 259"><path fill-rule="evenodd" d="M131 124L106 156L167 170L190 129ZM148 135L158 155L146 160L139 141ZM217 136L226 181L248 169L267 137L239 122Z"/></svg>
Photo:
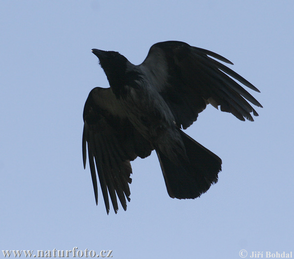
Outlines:
<svg viewBox="0 0 294 259"><path fill-rule="evenodd" d="M178 154L169 152L173 161L177 155L185 153L185 148L178 131L175 119L163 97L154 91L151 82L146 80L146 75L136 80L136 87L122 86L127 94L118 99L122 110L138 132L153 147L160 149L174 147ZM181 147L176 149L176 147Z"/></svg>

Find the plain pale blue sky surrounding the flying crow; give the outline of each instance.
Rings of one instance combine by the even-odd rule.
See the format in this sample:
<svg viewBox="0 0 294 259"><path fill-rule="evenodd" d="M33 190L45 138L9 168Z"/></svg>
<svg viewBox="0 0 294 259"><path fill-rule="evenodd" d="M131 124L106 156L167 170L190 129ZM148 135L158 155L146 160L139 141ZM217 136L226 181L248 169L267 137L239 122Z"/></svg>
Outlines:
<svg viewBox="0 0 294 259"><path fill-rule="evenodd" d="M113 250L114 259L294 252L293 28L292 0L1 0L0 250L78 247ZM140 64L166 40L231 60L264 108L242 122L208 107L186 131L223 162L200 198L170 198L153 152L132 162L127 211L107 215L82 164L85 100L108 87L91 49Z"/></svg>

